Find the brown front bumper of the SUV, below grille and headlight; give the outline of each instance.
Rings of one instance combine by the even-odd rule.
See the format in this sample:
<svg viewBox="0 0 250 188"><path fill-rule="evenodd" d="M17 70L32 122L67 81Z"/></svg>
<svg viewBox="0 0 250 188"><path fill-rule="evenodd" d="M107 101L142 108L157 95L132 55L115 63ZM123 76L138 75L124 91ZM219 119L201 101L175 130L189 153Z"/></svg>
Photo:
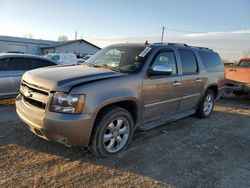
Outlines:
<svg viewBox="0 0 250 188"><path fill-rule="evenodd" d="M67 146L87 146L89 143L93 119L91 114L61 114L45 111L16 100L16 111L30 131L46 140Z"/></svg>

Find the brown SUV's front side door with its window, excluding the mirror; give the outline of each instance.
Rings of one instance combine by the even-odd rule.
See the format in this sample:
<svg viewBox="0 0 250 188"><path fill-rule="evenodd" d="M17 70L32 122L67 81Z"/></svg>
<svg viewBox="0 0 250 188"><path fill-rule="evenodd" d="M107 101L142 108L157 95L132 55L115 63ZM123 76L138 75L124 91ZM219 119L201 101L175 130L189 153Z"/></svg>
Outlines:
<svg viewBox="0 0 250 188"><path fill-rule="evenodd" d="M143 122L168 118L175 114L180 97L180 75L178 74L175 53L172 50L160 51L149 68L159 64L171 64L171 75L148 76L143 80L144 113Z"/></svg>

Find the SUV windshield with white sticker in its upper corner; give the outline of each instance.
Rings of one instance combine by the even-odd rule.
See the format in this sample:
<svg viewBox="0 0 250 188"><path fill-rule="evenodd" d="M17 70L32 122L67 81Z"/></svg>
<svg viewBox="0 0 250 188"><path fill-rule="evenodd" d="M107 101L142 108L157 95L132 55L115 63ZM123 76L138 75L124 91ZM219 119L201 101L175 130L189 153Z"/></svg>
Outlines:
<svg viewBox="0 0 250 188"><path fill-rule="evenodd" d="M140 70L150 49L143 46L110 46L96 53L85 63L121 72L136 72Z"/></svg>

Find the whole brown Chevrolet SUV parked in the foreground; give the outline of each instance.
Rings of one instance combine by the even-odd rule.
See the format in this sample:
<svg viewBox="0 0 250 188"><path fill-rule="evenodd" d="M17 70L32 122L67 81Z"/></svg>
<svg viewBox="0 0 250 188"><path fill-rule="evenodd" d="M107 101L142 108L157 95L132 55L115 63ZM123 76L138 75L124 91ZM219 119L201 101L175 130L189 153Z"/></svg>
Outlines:
<svg viewBox="0 0 250 188"><path fill-rule="evenodd" d="M37 136L107 157L124 151L135 129L209 117L224 90L224 66L210 49L118 44L83 65L25 73L16 110Z"/></svg>

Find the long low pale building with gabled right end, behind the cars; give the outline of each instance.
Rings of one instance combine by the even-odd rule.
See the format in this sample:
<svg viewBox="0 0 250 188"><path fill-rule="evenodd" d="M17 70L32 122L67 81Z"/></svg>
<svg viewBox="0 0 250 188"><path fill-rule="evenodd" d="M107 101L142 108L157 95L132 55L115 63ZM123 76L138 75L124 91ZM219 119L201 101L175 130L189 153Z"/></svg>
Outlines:
<svg viewBox="0 0 250 188"><path fill-rule="evenodd" d="M83 39L59 42L0 36L0 52L22 52L34 55L71 52L83 56L95 54L99 50L98 46Z"/></svg>

